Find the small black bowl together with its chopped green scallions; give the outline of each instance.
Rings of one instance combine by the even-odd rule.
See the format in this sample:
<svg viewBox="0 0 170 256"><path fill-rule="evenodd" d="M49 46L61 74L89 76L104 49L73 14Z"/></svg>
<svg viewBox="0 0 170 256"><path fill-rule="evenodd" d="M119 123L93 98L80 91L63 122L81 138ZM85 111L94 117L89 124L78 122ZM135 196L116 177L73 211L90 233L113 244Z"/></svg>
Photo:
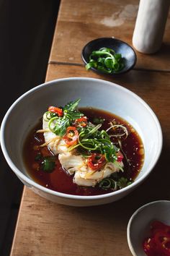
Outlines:
<svg viewBox="0 0 170 256"><path fill-rule="evenodd" d="M97 38L84 46L81 57L86 69L102 74L122 74L133 69L135 51L116 38Z"/></svg>

